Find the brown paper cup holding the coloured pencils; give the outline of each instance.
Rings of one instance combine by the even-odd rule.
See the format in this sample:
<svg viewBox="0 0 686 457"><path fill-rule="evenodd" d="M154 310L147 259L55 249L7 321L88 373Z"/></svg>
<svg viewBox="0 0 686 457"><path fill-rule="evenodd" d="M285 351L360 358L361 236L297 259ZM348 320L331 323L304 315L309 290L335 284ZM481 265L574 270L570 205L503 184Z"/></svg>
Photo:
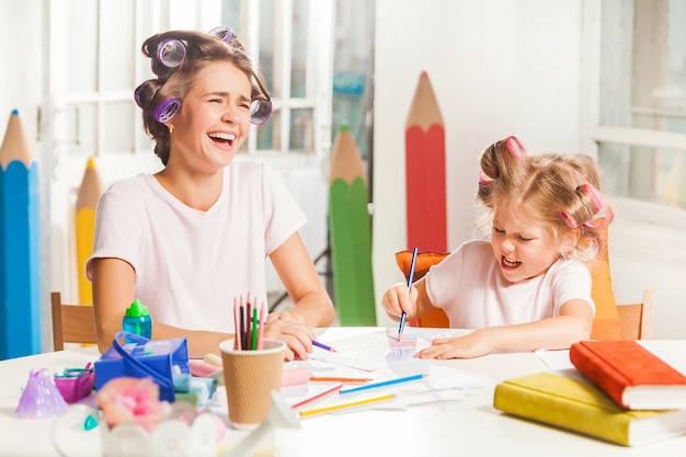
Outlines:
<svg viewBox="0 0 686 457"><path fill-rule="evenodd" d="M233 429L254 430L270 412L272 390L281 391L286 343L265 338L262 350L238 351L231 339L219 350L229 422Z"/></svg>

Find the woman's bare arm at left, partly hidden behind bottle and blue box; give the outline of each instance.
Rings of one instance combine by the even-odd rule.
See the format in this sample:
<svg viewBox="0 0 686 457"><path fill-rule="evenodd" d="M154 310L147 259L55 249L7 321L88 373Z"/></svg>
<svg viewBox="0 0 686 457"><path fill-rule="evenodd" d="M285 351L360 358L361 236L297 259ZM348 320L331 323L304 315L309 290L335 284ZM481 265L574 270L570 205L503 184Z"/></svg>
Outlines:
<svg viewBox="0 0 686 457"><path fill-rule="evenodd" d="M122 331L122 320L126 308L134 301L135 272L134 267L121 259L95 259L92 261L93 311L95 313L95 333L98 349L105 352L117 332ZM153 340L169 340L186 336L188 356L203 358L207 353L219 354L219 343L233 334L191 331L152 323Z"/></svg>

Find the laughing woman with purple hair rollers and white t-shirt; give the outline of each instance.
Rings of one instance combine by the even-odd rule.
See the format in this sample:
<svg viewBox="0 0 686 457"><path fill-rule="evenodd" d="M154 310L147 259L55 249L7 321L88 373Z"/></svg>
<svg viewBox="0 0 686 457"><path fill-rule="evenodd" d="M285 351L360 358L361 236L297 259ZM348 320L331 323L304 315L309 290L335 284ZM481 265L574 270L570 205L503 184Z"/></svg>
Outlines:
<svg viewBox="0 0 686 457"><path fill-rule="evenodd" d="M87 275L100 350L138 298L152 339L186 336L191 357L218 353L235 300L266 300L268 256L295 306L271 313L264 336L285 341L287 359L307 358L310 329L334 311L298 235L305 214L265 164L235 160L251 122L271 114L264 84L226 27L155 35L142 53L157 78L135 95L164 168L115 183L98 204Z"/></svg>

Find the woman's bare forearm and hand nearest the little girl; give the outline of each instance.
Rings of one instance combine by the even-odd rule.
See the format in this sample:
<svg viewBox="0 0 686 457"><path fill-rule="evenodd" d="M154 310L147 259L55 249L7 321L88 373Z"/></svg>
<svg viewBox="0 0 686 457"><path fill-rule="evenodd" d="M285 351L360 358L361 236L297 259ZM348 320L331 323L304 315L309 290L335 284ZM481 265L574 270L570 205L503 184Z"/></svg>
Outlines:
<svg viewBox="0 0 686 457"><path fill-rule="evenodd" d="M333 302L299 233L290 236L270 259L295 306L287 311L271 313L265 335L288 344L290 353L287 352L286 358L307 358L316 338L311 329L329 327L333 322Z"/></svg>

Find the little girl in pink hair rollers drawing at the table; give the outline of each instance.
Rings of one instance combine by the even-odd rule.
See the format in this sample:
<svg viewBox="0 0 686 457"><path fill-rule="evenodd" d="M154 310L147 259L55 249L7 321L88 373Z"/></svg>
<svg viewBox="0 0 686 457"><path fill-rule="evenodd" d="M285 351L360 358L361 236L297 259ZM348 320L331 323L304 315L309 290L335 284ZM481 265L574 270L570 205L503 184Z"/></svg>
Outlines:
<svg viewBox="0 0 686 457"><path fill-rule="evenodd" d="M527 156L515 137L481 157L477 201L490 242L465 242L408 290L384 294L398 319L443 308L450 327L473 331L437 339L421 358L478 357L494 350L564 349L588 339L595 313L591 274L598 230L611 218L595 161L582 153Z"/></svg>

